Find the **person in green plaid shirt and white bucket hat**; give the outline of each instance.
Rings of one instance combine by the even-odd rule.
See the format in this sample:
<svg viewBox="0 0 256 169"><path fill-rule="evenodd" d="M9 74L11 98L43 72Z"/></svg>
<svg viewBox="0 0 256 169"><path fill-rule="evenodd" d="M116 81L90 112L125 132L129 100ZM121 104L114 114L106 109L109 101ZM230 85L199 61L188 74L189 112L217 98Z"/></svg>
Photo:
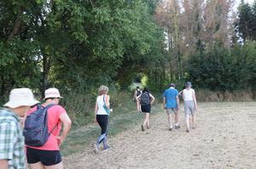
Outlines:
<svg viewBox="0 0 256 169"><path fill-rule="evenodd" d="M9 94L9 102L0 109L0 167L25 168L24 137L20 117L31 106L38 104L29 88L15 88Z"/></svg>

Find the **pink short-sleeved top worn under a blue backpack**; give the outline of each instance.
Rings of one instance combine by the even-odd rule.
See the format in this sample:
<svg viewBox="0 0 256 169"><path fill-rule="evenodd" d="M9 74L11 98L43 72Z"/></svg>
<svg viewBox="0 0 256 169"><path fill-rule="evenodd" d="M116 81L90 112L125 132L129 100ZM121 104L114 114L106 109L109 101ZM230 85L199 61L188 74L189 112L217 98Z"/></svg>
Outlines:
<svg viewBox="0 0 256 169"><path fill-rule="evenodd" d="M27 115L30 115L33 111L37 110L37 106L34 107L32 110L30 110ZM32 149L42 149L42 150L60 150L57 136L59 136L61 132L61 121L60 121L60 115L63 113L67 113L67 111L61 107L61 105L54 105L53 107L50 107L49 110L47 110L48 115L48 132L52 131L52 129L55 127L55 125L58 123L58 126L55 127L53 132L49 135L49 138L47 142L41 146L41 147L32 147L28 146Z"/></svg>

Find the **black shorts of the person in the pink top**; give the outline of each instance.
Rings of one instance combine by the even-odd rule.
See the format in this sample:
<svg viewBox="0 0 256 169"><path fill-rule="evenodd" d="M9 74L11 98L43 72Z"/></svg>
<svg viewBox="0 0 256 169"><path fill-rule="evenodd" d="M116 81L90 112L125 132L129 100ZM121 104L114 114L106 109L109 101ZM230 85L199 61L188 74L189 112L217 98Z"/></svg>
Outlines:
<svg viewBox="0 0 256 169"><path fill-rule="evenodd" d="M53 166L61 162L61 154L59 150L41 150L26 147L26 159L28 164L41 161L44 166Z"/></svg>

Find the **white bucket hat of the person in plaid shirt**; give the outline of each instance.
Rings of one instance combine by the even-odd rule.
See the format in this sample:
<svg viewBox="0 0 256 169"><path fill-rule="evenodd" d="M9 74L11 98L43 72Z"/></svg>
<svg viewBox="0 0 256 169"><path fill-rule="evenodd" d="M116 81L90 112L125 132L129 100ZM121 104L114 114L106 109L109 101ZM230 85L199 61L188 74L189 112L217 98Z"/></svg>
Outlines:
<svg viewBox="0 0 256 169"><path fill-rule="evenodd" d="M9 102L4 106L9 108L17 108L20 106L32 106L38 104L38 100L34 99L34 95L29 88L14 88L9 94Z"/></svg>

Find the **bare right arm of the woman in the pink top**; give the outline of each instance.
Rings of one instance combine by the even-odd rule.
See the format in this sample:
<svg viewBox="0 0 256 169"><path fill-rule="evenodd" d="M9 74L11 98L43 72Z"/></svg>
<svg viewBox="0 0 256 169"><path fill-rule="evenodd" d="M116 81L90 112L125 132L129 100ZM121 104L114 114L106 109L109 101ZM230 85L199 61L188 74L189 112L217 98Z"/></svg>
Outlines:
<svg viewBox="0 0 256 169"><path fill-rule="evenodd" d="M71 120L67 113L62 113L60 115L60 120L63 123L63 132L61 133L61 136L58 137L59 139L59 146L61 146L61 142L67 137L67 133L69 132L71 128Z"/></svg>

